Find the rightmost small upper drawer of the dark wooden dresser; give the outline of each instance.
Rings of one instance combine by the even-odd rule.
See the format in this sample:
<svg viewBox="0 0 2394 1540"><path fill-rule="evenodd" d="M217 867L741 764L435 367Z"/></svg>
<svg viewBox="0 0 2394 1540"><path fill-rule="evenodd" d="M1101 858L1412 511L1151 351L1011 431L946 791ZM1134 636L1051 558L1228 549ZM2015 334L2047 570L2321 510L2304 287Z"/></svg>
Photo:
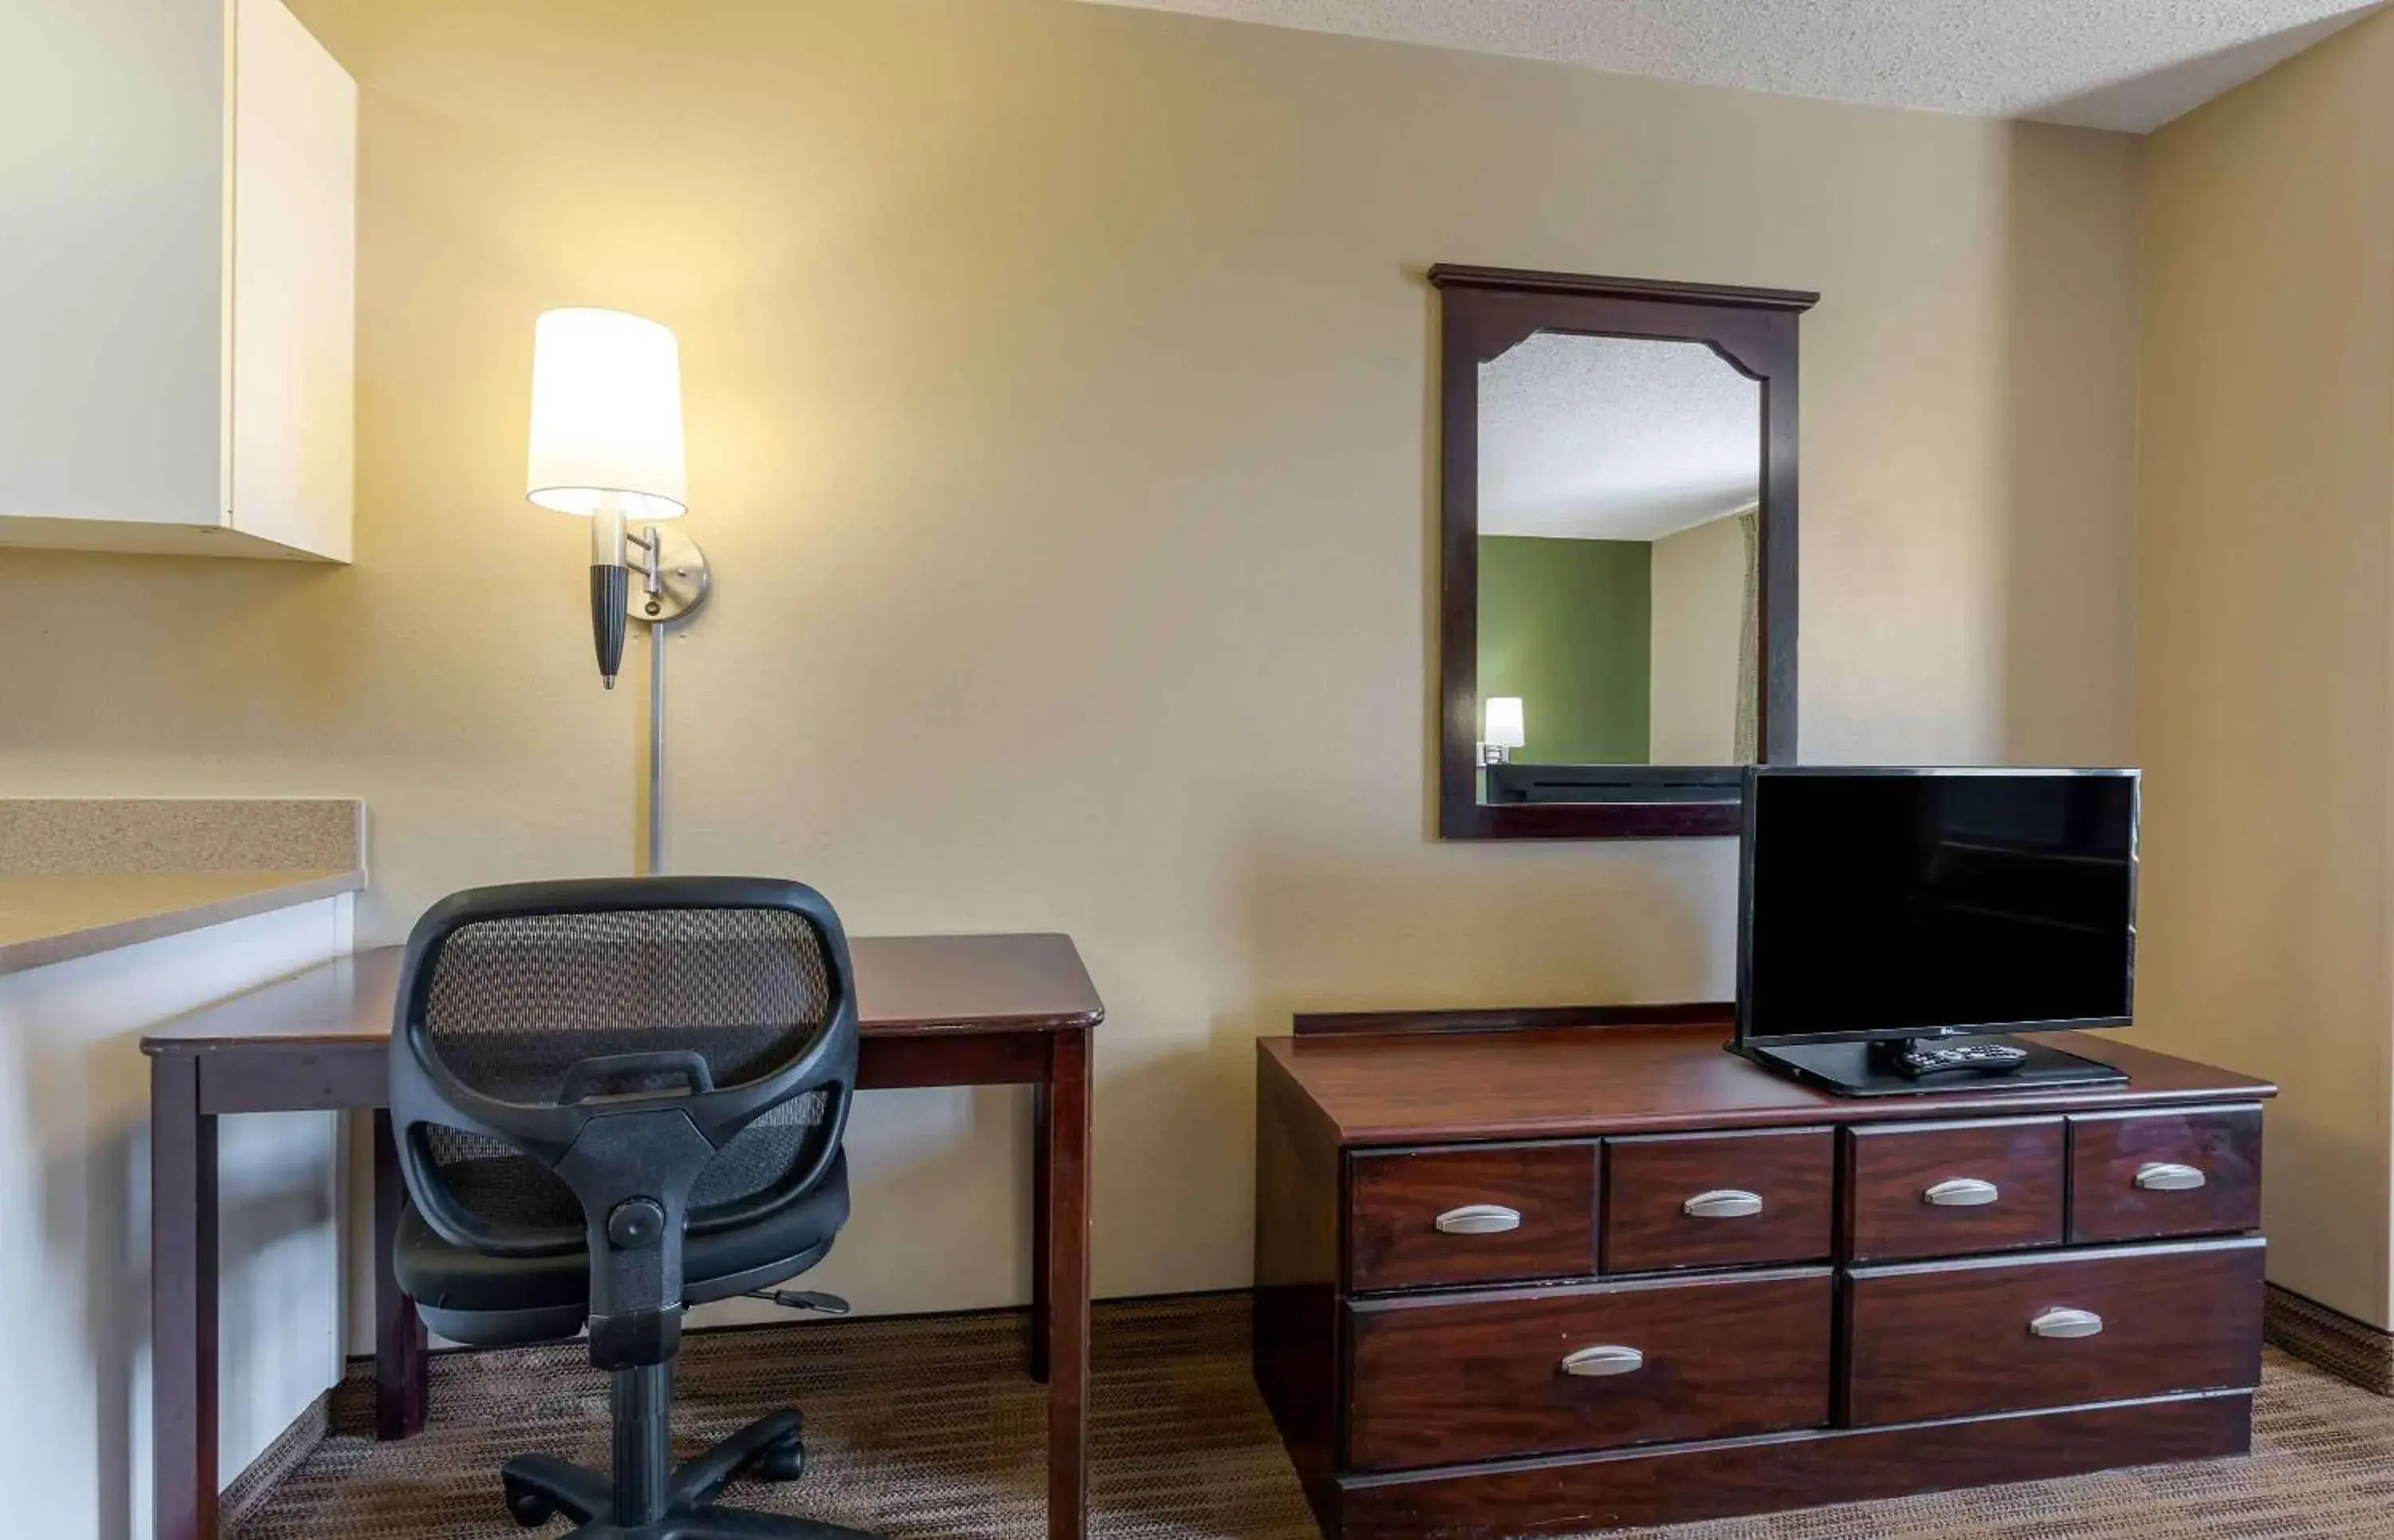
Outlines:
<svg viewBox="0 0 2394 1540"><path fill-rule="evenodd" d="M2071 1118L2071 1241L2260 1229L2260 1107Z"/></svg>

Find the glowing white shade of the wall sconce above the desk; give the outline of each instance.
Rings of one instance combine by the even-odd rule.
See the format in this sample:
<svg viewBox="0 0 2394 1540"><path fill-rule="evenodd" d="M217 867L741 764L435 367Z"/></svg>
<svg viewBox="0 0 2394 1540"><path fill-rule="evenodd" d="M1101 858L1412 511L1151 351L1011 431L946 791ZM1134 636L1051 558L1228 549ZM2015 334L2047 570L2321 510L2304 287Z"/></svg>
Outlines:
<svg viewBox="0 0 2394 1540"><path fill-rule="evenodd" d="M524 496L639 522L687 513L682 354L668 328L610 309L553 309L534 323Z"/></svg>

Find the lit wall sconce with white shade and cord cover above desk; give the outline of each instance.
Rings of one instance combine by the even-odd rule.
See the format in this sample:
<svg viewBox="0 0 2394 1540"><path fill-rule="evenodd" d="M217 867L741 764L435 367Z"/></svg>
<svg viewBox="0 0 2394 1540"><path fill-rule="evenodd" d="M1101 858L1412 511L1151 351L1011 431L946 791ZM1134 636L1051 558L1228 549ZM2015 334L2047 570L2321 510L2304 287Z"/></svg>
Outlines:
<svg viewBox="0 0 2394 1540"><path fill-rule="evenodd" d="M591 522L591 642L615 687L627 620L649 625L649 869L666 862L666 625L706 604L706 553L682 534L682 357L656 321L553 309L531 328L524 496ZM639 572L639 589L632 587Z"/></svg>

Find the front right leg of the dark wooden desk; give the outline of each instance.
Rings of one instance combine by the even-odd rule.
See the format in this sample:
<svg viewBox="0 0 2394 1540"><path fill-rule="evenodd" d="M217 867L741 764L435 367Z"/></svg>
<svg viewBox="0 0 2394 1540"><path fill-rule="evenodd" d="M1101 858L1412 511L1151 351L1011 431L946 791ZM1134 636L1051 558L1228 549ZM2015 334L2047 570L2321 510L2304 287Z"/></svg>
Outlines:
<svg viewBox="0 0 2394 1540"><path fill-rule="evenodd" d="M1049 1540L1089 1530L1089 1032L1049 1037L1032 1202L1032 1372L1049 1387Z"/></svg>

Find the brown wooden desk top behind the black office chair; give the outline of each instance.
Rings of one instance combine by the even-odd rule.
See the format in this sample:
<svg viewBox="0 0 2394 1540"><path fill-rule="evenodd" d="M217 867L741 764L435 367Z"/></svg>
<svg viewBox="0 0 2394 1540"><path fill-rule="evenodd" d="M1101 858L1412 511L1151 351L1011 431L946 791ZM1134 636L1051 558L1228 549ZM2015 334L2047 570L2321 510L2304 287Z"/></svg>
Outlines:
<svg viewBox="0 0 2394 1540"><path fill-rule="evenodd" d="M388 1042L402 951L359 951L177 1015L141 1051ZM867 1035L1065 1032L1106 1018L1073 936L850 936L847 951Z"/></svg>

